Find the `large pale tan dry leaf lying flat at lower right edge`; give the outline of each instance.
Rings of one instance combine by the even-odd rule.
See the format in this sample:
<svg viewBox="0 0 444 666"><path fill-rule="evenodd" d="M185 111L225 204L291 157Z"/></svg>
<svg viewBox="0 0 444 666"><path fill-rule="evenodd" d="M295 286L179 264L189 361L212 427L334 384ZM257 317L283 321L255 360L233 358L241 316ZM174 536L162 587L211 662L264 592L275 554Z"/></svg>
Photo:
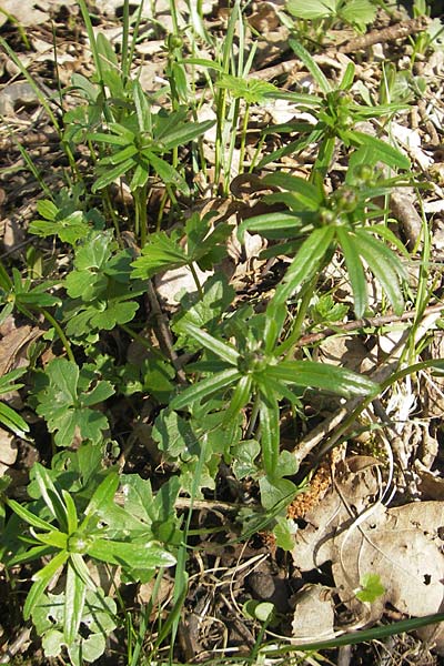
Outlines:
<svg viewBox="0 0 444 666"><path fill-rule="evenodd" d="M360 528L333 539L333 576L342 601L357 615L353 595L364 574L377 574L385 593L366 604L365 623L380 619L390 603L401 613L422 617L443 603L444 554L437 528L444 503L417 502L385 511L380 506Z"/></svg>

